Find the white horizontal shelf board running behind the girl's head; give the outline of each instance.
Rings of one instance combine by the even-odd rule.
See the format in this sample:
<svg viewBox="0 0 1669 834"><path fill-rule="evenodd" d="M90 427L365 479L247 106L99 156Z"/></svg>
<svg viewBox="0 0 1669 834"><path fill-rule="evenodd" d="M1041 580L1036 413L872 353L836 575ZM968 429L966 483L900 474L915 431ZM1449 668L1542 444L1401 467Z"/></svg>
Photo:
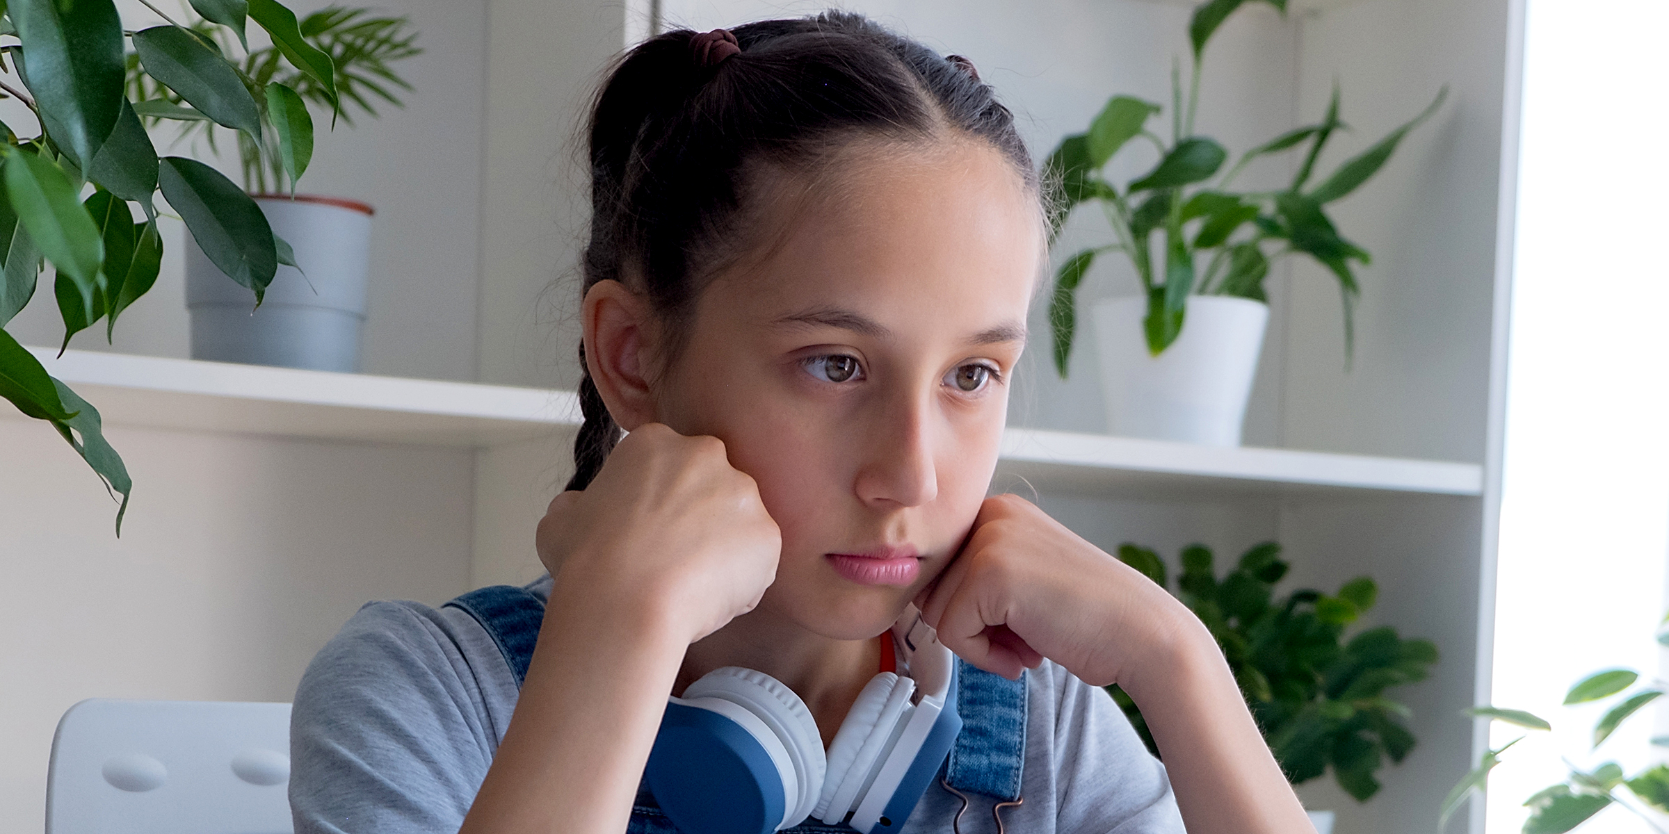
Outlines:
<svg viewBox="0 0 1669 834"><path fill-rule="evenodd" d="M90 350L47 370L98 407L105 424L426 445L494 445L572 430L569 392L330 374ZM1008 429L996 485L1195 497L1207 494L1424 492L1477 495L1482 467L1440 460L1205 447Z"/></svg>

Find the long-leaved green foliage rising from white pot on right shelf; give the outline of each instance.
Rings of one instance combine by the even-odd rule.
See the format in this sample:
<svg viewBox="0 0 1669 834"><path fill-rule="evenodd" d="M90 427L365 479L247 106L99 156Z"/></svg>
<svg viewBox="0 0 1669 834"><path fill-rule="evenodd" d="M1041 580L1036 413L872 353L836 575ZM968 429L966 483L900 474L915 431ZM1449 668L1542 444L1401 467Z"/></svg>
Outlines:
<svg viewBox="0 0 1669 834"><path fill-rule="evenodd" d="M1265 0L1287 12L1287 0ZM1082 203L1102 207L1115 240L1085 249L1060 267L1050 300L1050 325L1055 337L1055 370L1066 377L1077 332L1077 290L1098 255L1123 252L1135 267L1147 295L1143 330L1148 350L1158 355L1182 334L1185 302L1190 294L1237 295L1267 302L1263 277L1270 259L1303 254L1327 267L1339 280L1345 315L1345 355L1354 344L1352 309L1360 289L1350 262L1367 264L1369 254L1345 240L1329 220L1325 205L1367 182L1397 150L1397 143L1415 125L1430 117L1449 88L1420 115L1392 130L1370 148L1339 165L1320 185L1308 187L1315 162L1337 130L1349 130L1339 118L1339 85L1334 85L1327 115L1319 123L1288 130L1240 155L1215 183L1228 152L1213 138L1193 135L1193 117L1200 100L1200 68L1205 45L1217 28L1245 0L1210 0L1193 10L1188 40L1193 45L1193 68L1188 75L1187 100L1182 90L1182 67L1172 67L1170 142L1148 130L1148 118L1162 107L1128 95L1115 95L1090 122L1083 133L1061 140L1045 163L1045 182L1051 185L1050 244L1061 224ZM1135 138L1158 150L1158 163L1137 177L1123 190L1103 173L1105 165ZM1273 192L1232 192L1235 177L1258 157L1282 153L1305 145L1303 162L1292 185ZM1190 188L1192 187L1192 188ZM1155 249L1153 235L1160 240ZM1273 252L1268 252L1273 247ZM1205 260L1203 272L1198 262Z"/></svg>

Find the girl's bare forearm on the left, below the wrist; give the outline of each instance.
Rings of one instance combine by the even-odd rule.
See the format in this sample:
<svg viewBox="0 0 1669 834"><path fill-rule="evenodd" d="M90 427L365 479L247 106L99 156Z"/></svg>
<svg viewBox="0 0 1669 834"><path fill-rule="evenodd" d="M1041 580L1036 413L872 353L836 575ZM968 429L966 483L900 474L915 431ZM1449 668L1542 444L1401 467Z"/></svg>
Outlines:
<svg viewBox="0 0 1669 834"><path fill-rule="evenodd" d="M552 589L539 646L461 834L626 831L688 639Z"/></svg>

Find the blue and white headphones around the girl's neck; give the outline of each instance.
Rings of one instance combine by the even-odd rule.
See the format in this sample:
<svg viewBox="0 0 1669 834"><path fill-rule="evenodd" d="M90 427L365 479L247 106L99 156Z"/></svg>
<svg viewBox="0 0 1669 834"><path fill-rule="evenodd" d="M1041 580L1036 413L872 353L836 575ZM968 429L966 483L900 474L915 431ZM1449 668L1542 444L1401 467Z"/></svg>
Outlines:
<svg viewBox="0 0 1669 834"><path fill-rule="evenodd" d="M921 614L908 609L888 636L906 676L870 679L826 756L811 711L764 672L726 666L669 697L644 769L661 811L689 834L771 834L808 816L901 829L961 717L955 659Z"/></svg>

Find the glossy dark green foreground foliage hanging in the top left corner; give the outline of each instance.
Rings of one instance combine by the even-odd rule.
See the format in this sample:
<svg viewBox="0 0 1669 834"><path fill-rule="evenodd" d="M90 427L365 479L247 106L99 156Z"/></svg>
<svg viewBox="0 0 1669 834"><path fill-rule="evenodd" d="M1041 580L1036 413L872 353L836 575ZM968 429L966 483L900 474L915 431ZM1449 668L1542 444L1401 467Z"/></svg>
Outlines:
<svg viewBox="0 0 1669 834"><path fill-rule="evenodd" d="M305 75L337 108L334 60L302 35L289 8L275 0L194 0L192 8L240 40L254 20L279 48L274 60ZM32 137L0 125L0 397L52 424L112 495L120 495L117 534L134 482L103 439L98 410L52 379L3 325L28 304L40 272L52 264L65 344L100 320L108 337L122 310L157 280L159 190L204 257L257 305L279 265L294 265L289 245L244 188L194 158L157 155L140 110L160 105L124 90L129 40L180 55L172 63L140 62L140 70L172 90L190 90L182 97L204 117L265 137L260 158L287 165L294 182L304 168L297 162L312 145L310 117L290 107L299 93L280 82L257 87L200 38L200 32L174 23L129 32L113 0L10 0L0 7L0 92L40 122Z"/></svg>

